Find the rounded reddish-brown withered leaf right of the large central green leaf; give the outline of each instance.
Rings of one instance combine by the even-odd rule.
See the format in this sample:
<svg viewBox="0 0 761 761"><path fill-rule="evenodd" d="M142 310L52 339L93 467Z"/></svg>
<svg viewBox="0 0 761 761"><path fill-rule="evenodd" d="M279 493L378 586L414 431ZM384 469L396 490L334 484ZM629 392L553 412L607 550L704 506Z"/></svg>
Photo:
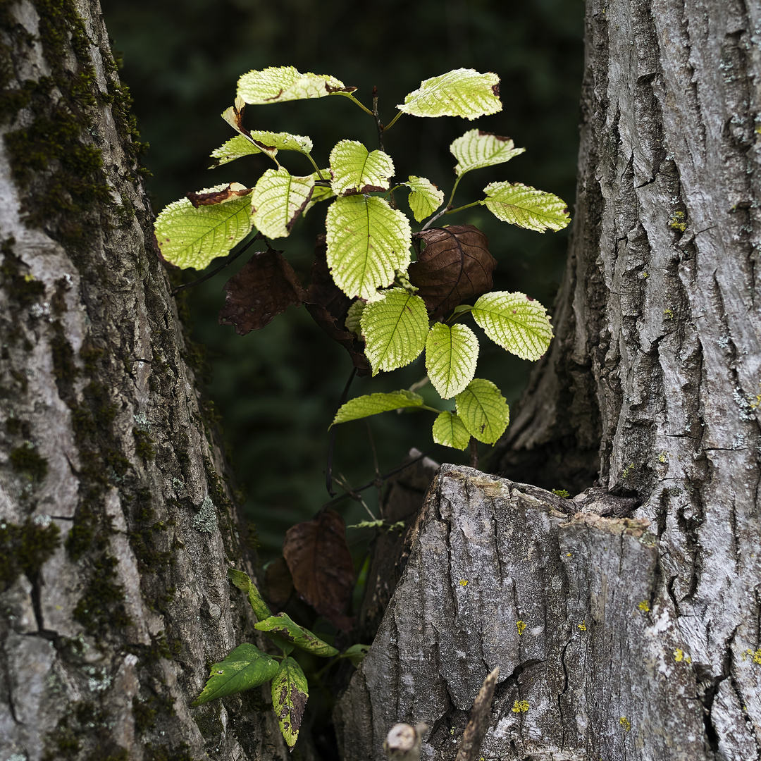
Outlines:
<svg viewBox="0 0 761 761"><path fill-rule="evenodd" d="M489 253L489 238L472 224L452 224L417 233L425 243L418 260L409 266L409 282L431 317L492 290L497 260Z"/></svg>

